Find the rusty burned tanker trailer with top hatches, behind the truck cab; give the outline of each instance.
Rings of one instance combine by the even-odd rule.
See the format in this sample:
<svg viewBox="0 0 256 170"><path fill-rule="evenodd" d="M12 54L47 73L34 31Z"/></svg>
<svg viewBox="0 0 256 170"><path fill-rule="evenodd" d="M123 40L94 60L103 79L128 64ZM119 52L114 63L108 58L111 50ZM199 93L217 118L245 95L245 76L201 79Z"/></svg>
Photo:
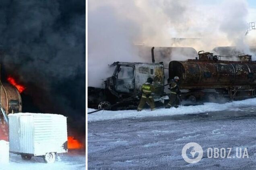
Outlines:
<svg viewBox="0 0 256 170"><path fill-rule="evenodd" d="M237 61L221 61L221 56L201 52L198 52L199 59L169 63L169 77L180 77L181 89L193 91L190 95L194 96L202 89L215 89L218 97L228 94L231 99L242 94L255 96L256 62L252 61L252 56L240 55Z"/></svg>

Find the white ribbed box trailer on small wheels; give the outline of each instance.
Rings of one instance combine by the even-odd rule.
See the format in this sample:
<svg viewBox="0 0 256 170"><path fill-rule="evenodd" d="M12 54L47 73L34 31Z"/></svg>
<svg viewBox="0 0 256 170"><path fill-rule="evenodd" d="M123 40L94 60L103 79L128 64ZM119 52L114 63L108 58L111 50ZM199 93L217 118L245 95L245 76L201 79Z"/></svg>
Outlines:
<svg viewBox="0 0 256 170"><path fill-rule="evenodd" d="M9 114L10 153L23 160L43 157L53 163L58 153L68 152L67 120L63 115L48 113Z"/></svg>

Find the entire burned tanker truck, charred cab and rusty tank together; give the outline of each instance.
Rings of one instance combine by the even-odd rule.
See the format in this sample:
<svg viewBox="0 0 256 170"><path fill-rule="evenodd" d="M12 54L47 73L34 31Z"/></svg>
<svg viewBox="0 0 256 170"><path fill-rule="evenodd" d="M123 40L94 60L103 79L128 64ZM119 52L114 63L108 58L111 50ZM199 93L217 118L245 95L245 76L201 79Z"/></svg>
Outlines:
<svg viewBox="0 0 256 170"><path fill-rule="evenodd" d="M105 81L105 89L88 87L88 105L90 108L103 107L122 101L140 91L148 77L153 84L164 85L163 63L155 63L152 48L152 63L115 62L116 69ZM182 98L195 103L198 100L215 102L216 99L239 100L256 96L256 62L250 55L239 56L240 61L221 61L221 56L213 53L200 53L196 59L171 61L169 78L180 77ZM164 87L158 88L153 97L163 101L166 96ZM134 109L140 96L118 105L115 109ZM114 109L114 108L111 108Z"/></svg>

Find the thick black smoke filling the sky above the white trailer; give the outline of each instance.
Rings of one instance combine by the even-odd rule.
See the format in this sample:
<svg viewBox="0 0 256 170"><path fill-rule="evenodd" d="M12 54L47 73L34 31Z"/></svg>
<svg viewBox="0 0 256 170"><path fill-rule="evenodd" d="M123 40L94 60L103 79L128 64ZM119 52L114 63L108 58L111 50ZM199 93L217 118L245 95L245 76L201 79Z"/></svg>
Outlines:
<svg viewBox="0 0 256 170"><path fill-rule="evenodd" d="M61 113L85 132L85 0L1 0L1 80L27 87L23 112Z"/></svg>

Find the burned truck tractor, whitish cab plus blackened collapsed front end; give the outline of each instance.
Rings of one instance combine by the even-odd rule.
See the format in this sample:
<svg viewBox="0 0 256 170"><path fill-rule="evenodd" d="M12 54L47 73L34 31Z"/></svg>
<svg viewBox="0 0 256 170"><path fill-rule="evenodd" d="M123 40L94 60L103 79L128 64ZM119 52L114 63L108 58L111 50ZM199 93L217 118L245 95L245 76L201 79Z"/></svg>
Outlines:
<svg viewBox="0 0 256 170"><path fill-rule="evenodd" d="M90 108L101 109L118 101L126 99L138 91L149 77L153 79L155 87L164 85L163 63L132 63L114 62L110 67L115 67L111 77L104 83L105 88L88 87L88 105ZM155 99L163 95L164 87L157 88L153 97ZM131 100L118 105L124 109L137 107L140 96L134 96ZM113 109L113 108L111 108Z"/></svg>

